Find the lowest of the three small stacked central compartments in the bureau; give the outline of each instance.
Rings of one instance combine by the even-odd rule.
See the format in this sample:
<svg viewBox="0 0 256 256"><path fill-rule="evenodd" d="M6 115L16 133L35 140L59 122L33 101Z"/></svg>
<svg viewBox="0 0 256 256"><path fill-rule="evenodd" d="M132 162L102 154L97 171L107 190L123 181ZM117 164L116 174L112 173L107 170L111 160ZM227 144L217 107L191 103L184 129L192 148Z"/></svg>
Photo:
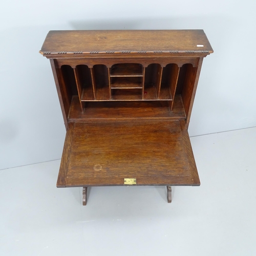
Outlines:
<svg viewBox="0 0 256 256"><path fill-rule="evenodd" d="M112 100L141 100L142 89L112 89Z"/></svg>

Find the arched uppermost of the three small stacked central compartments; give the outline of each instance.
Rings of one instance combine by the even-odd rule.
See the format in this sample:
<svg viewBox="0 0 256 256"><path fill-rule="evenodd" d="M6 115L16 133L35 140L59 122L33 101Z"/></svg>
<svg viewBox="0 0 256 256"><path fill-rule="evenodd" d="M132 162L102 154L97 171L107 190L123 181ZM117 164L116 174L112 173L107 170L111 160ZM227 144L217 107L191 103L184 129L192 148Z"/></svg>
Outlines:
<svg viewBox="0 0 256 256"><path fill-rule="evenodd" d="M142 65L137 63L120 63L111 67L111 77L143 76Z"/></svg>

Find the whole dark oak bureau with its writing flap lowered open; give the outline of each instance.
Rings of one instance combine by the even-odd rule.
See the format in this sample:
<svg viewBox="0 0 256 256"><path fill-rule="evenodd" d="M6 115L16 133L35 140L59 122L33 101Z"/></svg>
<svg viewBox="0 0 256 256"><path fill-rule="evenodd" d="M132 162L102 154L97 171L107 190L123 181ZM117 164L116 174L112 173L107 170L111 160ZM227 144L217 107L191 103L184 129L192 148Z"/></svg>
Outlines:
<svg viewBox="0 0 256 256"><path fill-rule="evenodd" d="M67 135L57 187L200 185L187 127L203 30L50 31Z"/></svg>

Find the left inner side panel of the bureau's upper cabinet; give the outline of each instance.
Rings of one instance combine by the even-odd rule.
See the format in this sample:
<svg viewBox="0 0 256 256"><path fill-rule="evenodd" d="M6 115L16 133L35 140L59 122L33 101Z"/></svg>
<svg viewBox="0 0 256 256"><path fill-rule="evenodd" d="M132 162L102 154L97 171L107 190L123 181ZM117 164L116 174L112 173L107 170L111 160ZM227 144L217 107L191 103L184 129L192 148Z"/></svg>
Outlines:
<svg viewBox="0 0 256 256"><path fill-rule="evenodd" d="M65 86L65 82L61 73L60 68L57 66L57 63L55 63L56 60L50 59L51 67L52 67L52 73L54 77L54 81L56 84L56 89L59 97L59 103L60 108L62 111L64 123L66 130L68 129L68 115L69 115L69 109L70 109L70 100L67 92L67 88Z"/></svg>

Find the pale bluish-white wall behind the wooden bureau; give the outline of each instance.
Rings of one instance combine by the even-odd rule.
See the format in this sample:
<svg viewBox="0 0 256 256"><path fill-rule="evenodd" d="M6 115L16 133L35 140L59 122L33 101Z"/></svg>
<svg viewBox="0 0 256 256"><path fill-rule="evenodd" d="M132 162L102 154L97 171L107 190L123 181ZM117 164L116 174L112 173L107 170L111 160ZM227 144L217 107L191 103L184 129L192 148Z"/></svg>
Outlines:
<svg viewBox="0 0 256 256"><path fill-rule="evenodd" d="M4 0L0 8L0 169L59 159L65 139L49 30L204 29L190 136L256 126L255 0Z"/></svg>

